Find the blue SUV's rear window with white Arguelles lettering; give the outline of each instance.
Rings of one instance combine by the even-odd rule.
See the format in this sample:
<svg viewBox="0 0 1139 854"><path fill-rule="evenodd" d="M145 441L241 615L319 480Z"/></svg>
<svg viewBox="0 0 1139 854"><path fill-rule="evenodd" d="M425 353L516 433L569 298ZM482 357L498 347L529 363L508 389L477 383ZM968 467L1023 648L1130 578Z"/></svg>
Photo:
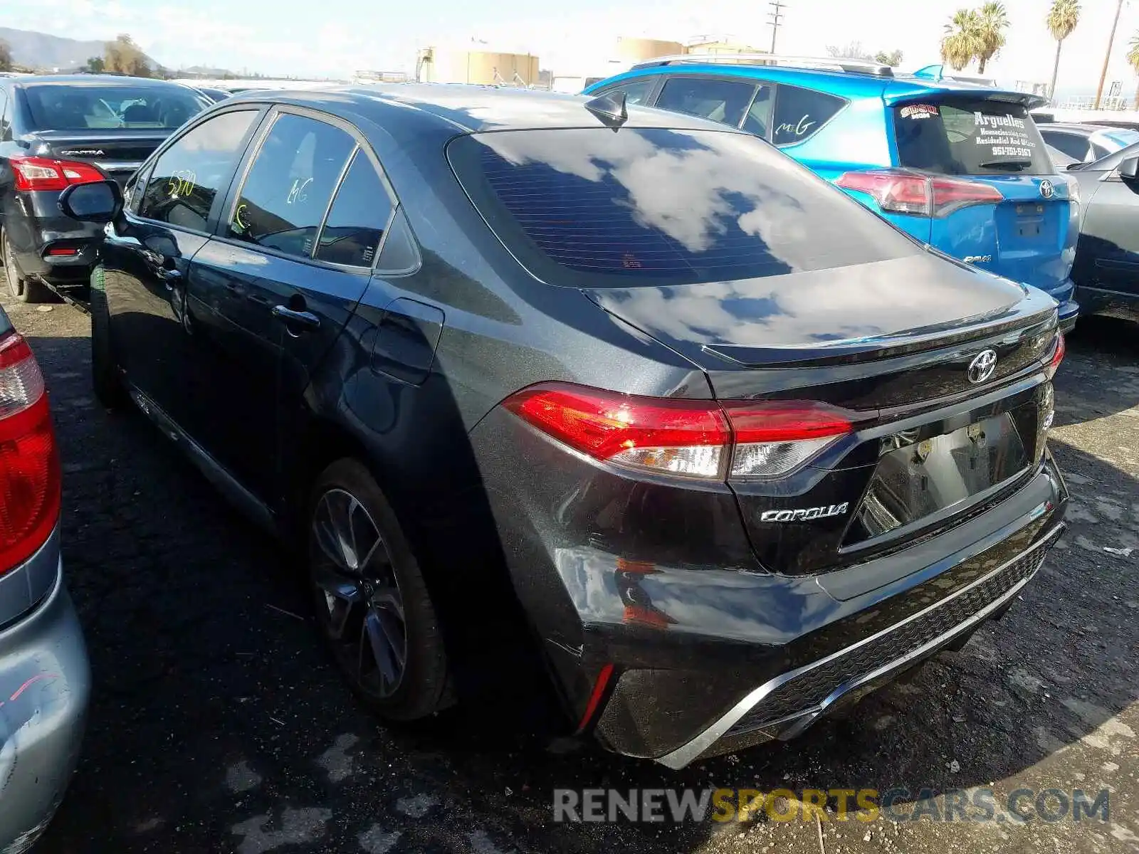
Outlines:
<svg viewBox="0 0 1139 854"><path fill-rule="evenodd" d="M950 175L1055 172L1044 141L1018 104L951 99L894 107L903 166Z"/></svg>

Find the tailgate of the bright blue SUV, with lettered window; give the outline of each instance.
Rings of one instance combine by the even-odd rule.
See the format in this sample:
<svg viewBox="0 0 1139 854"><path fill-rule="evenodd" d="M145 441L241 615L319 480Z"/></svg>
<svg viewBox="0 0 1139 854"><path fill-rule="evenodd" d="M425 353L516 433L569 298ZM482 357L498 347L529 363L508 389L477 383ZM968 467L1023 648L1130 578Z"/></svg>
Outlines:
<svg viewBox="0 0 1139 854"><path fill-rule="evenodd" d="M991 188L1000 202L968 198L933 217L939 249L1014 281L1056 294L1074 257L1077 211L1023 105L939 96L899 104L899 165Z"/></svg>

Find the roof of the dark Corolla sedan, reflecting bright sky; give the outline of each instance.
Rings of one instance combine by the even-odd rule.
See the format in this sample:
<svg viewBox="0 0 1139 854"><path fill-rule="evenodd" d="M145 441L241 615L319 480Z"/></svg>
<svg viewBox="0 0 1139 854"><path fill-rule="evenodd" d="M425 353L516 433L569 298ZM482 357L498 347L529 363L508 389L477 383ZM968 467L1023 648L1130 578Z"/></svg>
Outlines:
<svg viewBox="0 0 1139 854"><path fill-rule="evenodd" d="M531 89L473 85L466 83L386 83L330 87L325 90L256 90L240 92L222 101L278 102L308 106L336 114L352 112L384 126L392 122L416 121L425 125L470 133L480 131L536 130L543 128L601 128L580 95ZM625 128L670 128L675 130L735 129L704 118L630 105Z"/></svg>

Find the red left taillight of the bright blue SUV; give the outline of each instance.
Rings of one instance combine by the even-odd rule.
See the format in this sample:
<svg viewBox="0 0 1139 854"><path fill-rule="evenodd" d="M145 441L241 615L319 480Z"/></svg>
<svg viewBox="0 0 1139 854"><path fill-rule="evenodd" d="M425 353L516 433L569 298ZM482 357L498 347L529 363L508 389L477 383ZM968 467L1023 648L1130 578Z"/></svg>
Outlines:
<svg viewBox="0 0 1139 854"><path fill-rule="evenodd" d="M1000 190L986 183L903 170L845 172L835 183L872 196L883 211L918 216L947 216L969 205L1005 200Z"/></svg>

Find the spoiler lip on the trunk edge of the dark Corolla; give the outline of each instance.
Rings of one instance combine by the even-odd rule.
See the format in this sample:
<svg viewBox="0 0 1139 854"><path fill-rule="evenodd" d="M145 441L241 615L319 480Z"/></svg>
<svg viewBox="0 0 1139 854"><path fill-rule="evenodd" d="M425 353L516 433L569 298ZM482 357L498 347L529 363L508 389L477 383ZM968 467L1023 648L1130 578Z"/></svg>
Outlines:
<svg viewBox="0 0 1139 854"><path fill-rule="evenodd" d="M857 364L893 356L908 355L929 350L940 350L973 340L990 338L1018 330L1038 327L1036 334L1058 328L1059 318L1056 301L1042 291L1030 294L1024 299L989 314L947 321L891 335L867 338L850 338L825 345L820 353L818 342L806 347L763 347L746 345L705 344L700 350L740 368L822 367L831 364ZM710 368L711 369L711 368Z"/></svg>

